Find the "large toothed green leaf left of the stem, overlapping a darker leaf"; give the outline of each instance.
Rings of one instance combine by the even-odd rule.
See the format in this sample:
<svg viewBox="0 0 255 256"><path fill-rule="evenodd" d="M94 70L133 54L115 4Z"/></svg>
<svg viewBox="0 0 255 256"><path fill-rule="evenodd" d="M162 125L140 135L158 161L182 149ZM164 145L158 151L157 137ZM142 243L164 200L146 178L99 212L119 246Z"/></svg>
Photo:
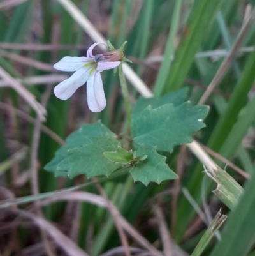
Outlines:
<svg viewBox="0 0 255 256"><path fill-rule="evenodd" d="M77 174L109 176L121 165L104 156L105 151L117 149L120 142L109 134L85 137L85 144L68 150L68 157L57 165L58 172L67 172L69 177Z"/></svg>

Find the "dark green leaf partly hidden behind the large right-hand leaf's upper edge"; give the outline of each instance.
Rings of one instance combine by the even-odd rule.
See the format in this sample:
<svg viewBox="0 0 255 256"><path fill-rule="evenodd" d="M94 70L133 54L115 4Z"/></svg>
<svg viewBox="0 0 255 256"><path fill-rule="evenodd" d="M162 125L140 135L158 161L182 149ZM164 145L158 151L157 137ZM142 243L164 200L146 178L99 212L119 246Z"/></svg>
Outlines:
<svg viewBox="0 0 255 256"><path fill-rule="evenodd" d="M172 103L175 106L182 104L187 98L187 90L188 88L182 88L178 91L172 91L163 97L154 97L154 98L143 98L140 97L136 102L133 112L138 113L151 105L152 109L156 109L157 107L163 106L165 104Z"/></svg>

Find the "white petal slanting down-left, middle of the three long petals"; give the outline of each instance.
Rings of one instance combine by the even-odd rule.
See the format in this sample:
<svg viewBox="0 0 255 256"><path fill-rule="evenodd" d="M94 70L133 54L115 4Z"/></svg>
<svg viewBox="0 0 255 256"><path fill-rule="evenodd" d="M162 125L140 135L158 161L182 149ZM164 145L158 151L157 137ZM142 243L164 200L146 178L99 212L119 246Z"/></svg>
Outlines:
<svg viewBox="0 0 255 256"><path fill-rule="evenodd" d="M77 72L73 73L69 79L64 80L54 88L54 94L61 100L67 100L73 93L87 82L89 78L90 68L80 68Z"/></svg>

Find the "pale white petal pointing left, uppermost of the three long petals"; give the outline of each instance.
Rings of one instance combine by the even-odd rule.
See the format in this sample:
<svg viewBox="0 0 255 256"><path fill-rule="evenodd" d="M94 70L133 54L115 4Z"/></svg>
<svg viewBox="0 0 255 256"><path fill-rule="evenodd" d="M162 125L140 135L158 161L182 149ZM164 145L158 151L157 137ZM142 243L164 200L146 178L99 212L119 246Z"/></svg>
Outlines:
<svg viewBox="0 0 255 256"><path fill-rule="evenodd" d="M91 62L87 57L63 57L58 63L54 65L56 70L62 71L77 71L82 68L85 63Z"/></svg>

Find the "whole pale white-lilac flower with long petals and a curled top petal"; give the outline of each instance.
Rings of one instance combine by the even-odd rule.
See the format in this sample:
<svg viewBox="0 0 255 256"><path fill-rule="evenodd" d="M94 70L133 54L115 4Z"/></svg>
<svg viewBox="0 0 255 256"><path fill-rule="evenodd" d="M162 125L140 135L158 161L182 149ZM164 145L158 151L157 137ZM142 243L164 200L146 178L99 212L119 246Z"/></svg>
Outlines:
<svg viewBox="0 0 255 256"><path fill-rule="evenodd" d="M111 50L94 56L94 43L87 50L87 57L63 57L54 65L56 70L75 71L69 79L64 80L54 88L54 94L61 100L67 100L73 93L87 82L87 102L92 112L105 109L106 99L100 72L119 66L123 53L120 50ZM105 45L106 46L106 45Z"/></svg>

